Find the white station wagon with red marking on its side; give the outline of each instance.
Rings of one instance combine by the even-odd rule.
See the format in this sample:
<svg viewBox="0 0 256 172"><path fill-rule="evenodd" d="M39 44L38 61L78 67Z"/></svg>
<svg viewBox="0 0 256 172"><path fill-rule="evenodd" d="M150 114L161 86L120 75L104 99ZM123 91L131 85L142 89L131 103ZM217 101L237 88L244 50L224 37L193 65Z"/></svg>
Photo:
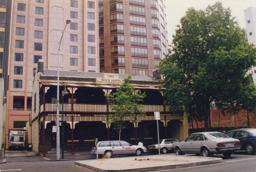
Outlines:
<svg viewBox="0 0 256 172"><path fill-rule="evenodd" d="M98 154L110 158L112 155L136 154L141 155L147 152L144 146L132 145L125 141L102 141L98 143ZM92 148L92 155L97 153L96 148Z"/></svg>

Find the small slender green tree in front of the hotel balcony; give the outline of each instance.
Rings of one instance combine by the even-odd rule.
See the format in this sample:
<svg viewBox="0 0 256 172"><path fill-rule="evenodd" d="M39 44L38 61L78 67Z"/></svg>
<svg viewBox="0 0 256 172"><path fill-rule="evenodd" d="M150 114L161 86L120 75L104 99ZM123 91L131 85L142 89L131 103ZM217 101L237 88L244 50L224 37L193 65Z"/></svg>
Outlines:
<svg viewBox="0 0 256 172"><path fill-rule="evenodd" d="M114 113L109 114L109 120L114 124L114 129L119 134L121 140L122 130L127 127L127 117L132 116L132 122L137 122L137 116L143 114L142 105L146 94L140 90L134 89L129 84L131 76L124 79L123 84L117 88L116 92L106 94L111 110Z"/></svg>

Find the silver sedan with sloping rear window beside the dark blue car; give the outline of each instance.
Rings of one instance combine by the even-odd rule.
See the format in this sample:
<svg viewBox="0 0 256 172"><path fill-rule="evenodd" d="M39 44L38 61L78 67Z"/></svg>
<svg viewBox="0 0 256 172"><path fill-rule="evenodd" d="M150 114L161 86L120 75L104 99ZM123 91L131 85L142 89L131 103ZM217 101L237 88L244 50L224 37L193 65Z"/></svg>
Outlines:
<svg viewBox="0 0 256 172"><path fill-rule="evenodd" d="M212 154L222 153L226 158L241 148L239 140L220 132L193 133L184 142L174 143L173 146L177 155L195 153L209 157Z"/></svg>

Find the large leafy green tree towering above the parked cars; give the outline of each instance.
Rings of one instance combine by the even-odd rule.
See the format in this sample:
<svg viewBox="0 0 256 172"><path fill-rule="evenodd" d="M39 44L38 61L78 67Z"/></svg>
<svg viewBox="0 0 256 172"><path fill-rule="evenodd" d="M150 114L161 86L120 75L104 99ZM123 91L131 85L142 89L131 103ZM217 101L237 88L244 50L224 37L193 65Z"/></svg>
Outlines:
<svg viewBox="0 0 256 172"><path fill-rule="evenodd" d="M237 107L237 94L250 84L246 72L256 64L256 49L247 43L231 10L221 3L205 10L188 9L181 18L169 55L159 65L166 103L172 113L204 118L210 103L221 110ZM253 88L254 89L254 88Z"/></svg>

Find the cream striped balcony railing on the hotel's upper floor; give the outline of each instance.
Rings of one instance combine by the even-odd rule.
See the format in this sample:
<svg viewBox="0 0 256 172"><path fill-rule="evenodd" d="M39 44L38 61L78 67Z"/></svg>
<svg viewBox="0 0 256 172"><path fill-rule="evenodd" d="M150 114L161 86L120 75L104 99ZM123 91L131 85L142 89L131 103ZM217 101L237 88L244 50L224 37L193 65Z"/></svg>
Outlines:
<svg viewBox="0 0 256 172"><path fill-rule="evenodd" d="M64 111L71 111L71 103L63 103ZM166 107L166 110L168 108ZM144 112L163 112L164 105L142 105ZM41 105L41 112L43 111L43 105ZM45 103L45 111L54 112L57 111L57 103ZM60 103L60 111L62 111L62 104ZM73 112L107 112L106 104L82 104L74 103ZM114 112L109 106L109 112Z"/></svg>

